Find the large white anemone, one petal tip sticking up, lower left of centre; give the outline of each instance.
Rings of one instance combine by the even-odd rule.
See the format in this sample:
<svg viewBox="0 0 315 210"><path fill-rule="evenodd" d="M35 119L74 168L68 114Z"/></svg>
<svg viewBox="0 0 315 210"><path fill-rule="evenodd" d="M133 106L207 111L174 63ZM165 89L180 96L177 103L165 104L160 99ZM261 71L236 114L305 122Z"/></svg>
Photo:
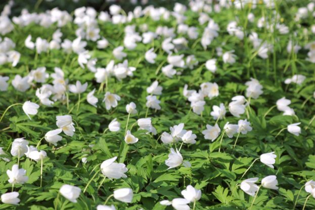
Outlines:
<svg viewBox="0 0 315 210"><path fill-rule="evenodd" d="M124 173L126 173L128 169L124 164L114 163L116 159L117 156L108 159L102 163L101 165L102 174L110 179L127 178L127 176Z"/></svg>

